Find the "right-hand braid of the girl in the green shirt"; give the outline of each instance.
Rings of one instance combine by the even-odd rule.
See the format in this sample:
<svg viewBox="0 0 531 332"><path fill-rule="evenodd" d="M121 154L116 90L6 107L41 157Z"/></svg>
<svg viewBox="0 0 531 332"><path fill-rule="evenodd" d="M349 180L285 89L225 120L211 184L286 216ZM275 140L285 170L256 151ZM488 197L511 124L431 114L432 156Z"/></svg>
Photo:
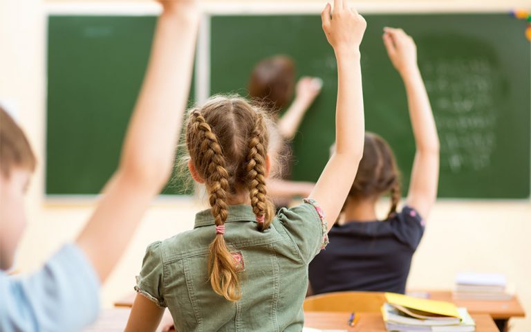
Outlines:
<svg viewBox="0 0 531 332"><path fill-rule="evenodd" d="M267 129L263 122L263 116L260 113L256 113L254 116L254 128L249 140L246 169L252 211L257 216L260 230L269 228L274 214L273 204L268 198L265 188L265 158L267 158L267 152L264 145L266 134Z"/></svg>

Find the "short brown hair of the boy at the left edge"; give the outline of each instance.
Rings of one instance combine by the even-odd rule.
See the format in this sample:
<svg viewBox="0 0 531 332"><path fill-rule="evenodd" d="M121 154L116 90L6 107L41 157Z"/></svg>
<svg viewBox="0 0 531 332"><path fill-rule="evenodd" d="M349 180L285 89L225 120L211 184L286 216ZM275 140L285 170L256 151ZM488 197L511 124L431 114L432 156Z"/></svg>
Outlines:
<svg viewBox="0 0 531 332"><path fill-rule="evenodd" d="M37 159L24 131L0 107L0 172L9 177L15 167L33 172L36 165Z"/></svg>

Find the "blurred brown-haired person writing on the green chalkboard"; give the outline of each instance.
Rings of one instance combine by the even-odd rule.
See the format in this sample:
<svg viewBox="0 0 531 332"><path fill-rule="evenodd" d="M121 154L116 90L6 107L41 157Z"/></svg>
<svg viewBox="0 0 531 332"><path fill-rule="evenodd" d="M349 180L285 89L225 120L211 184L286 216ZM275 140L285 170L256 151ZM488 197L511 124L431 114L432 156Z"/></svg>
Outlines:
<svg viewBox="0 0 531 332"><path fill-rule="evenodd" d="M278 178L268 180L268 190L277 207L287 206L293 196L306 197L315 183L290 181L293 139L306 111L321 92L322 81L317 77L302 77L295 84L295 63L287 55L275 55L261 60L251 73L248 84L250 98L258 100L277 122L276 138L270 145L270 153L279 165ZM288 106L293 93L295 100ZM279 112L286 112L279 116Z"/></svg>

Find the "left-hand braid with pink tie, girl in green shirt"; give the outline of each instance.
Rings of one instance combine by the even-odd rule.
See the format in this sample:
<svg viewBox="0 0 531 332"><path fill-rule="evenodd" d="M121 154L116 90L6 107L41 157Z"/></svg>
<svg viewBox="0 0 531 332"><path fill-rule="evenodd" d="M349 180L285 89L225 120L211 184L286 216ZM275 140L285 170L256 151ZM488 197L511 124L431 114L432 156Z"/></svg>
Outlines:
<svg viewBox="0 0 531 332"><path fill-rule="evenodd" d="M192 112L193 129L198 134L199 149L196 163L206 168L205 184L209 203L217 226L223 226L228 216L227 192L230 190L229 174L225 169L225 156L216 134L199 111ZM234 259L230 254L223 232L218 232L209 247L209 274L212 289L230 301L241 298Z"/></svg>

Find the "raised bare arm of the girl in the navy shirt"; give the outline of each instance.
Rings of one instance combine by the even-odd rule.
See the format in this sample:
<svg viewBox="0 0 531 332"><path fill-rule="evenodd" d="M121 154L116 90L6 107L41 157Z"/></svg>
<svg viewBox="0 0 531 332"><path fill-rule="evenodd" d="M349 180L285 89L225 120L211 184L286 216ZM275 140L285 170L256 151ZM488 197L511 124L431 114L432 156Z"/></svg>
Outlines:
<svg viewBox="0 0 531 332"><path fill-rule="evenodd" d="M384 44L389 58L406 87L409 116L415 136L416 154L411 171L407 204L427 219L437 199L439 138L428 94L417 65L413 39L402 29L385 28Z"/></svg>

